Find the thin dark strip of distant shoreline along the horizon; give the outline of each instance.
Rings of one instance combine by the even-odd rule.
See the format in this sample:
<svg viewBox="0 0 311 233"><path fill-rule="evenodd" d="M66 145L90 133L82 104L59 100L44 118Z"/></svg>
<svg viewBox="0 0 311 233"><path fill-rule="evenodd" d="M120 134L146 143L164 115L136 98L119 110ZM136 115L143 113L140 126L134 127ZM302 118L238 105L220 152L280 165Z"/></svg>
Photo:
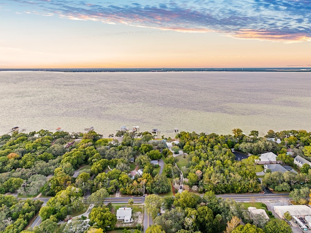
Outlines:
<svg viewBox="0 0 311 233"><path fill-rule="evenodd" d="M53 69L0 69L0 71L43 72L311 72L311 67L302 68L53 68Z"/></svg>

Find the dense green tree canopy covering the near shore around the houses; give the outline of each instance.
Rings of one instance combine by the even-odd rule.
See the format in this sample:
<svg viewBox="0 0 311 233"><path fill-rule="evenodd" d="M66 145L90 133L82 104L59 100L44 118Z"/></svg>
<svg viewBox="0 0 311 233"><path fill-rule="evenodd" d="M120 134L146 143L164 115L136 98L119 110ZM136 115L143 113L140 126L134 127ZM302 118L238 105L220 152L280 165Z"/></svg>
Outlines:
<svg viewBox="0 0 311 233"><path fill-rule="evenodd" d="M118 132L117 136L121 136L119 141L113 135L103 138L92 130L70 134L63 131L52 133L42 129L37 132L14 131L2 135L0 222L3 224L0 232L21 232L39 210L43 225L34 230L36 233L45 232L43 226L57 226L59 220L66 220L72 213L84 210L85 195L89 196L88 203L99 203L98 208L104 208L103 199L117 191L121 195L141 196L146 193L149 194L148 198L152 197L151 194L177 192L181 174L185 191L176 194L173 200L168 197L166 201L169 204L165 206L166 213L178 215L179 219L184 219L181 221L183 223L173 228L161 224L167 214L154 216L155 223L160 227L152 232L159 230L167 233L206 233L210 231L207 229L221 232L225 231L234 216L244 223L256 225L254 220L247 217L247 211L239 203L222 201L214 197L214 194L259 193L263 185L274 191L290 192L297 203L309 201L310 165L305 164L299 168L294 164L294 157L299 155L311 161L311 133L305 130L269 130L265 137L259 137L256 130L249 135L245 135L241 129L233 129L232 133L233 135L207 135L180 132L176 134L176 141L171 148L166 144L173 141L171 138L162 136L161 140L154 140L154 135L149 132ZM280 143L276 143L276 139ZM248 154L248 159L236 161L232 148ZM256 161L259 154L269 151L274 152L282 164L290 165L298 172L267 171L261 177L261 183L256 175L259 166ZM151 163L156 160L163 160L164 167L160 169L159 165ZM140 174L138 169L141 170ZM41 209L39 201L18 200L10 196L35 197L40 193L52 197ZM203 199L193 196L185 197L186 201L178 201L183 196L198 194L205 195ZM207 196L210 201L206 200ZM190 204L190 200L195 200L195 203ZM211 206L211 202L217 203L215 206L218 209ZM27 211L21 207L26 204L29 211L26 207L24 209ZM162 205L163 201L157 208ZM223 209L219 209L222 206ZM230 206L237 206L235 209L240 212L228 214L229 210L226 208L230 209ZM107 216L111 214L109 209L104 209L102 211ZM24 217L26 213L28 215ZM199 215L209 218L199 220ZM191 220L190 216L198 218ZM195 224L187 227L185 219ZM203 226L204 222L210 226ZM93 227L96 226L95 220L90 223L95 224ZM233 233L246 232L237 225L232 230ZM262 224L257 224L256 227L264 229ZM103 231L105 229L102 227Z"/></svg>

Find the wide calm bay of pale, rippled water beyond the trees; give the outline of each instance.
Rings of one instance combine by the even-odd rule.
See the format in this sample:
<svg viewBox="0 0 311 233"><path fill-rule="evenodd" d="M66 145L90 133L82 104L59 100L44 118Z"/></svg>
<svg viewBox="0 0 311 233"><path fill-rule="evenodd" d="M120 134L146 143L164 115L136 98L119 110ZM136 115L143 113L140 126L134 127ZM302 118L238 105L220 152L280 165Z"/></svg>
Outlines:
<svg viewBox="0 0 311 233"><path fill-rule="evenodd" d="M0 72L0 135L311 130L310 72Z"/></svg>

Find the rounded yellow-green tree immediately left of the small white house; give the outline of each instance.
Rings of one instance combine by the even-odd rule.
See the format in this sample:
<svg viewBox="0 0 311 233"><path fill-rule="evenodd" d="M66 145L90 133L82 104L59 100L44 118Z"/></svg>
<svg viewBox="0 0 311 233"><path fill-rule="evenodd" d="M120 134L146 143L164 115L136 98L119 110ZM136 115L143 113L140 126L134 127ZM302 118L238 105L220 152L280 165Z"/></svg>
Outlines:
<svg viewBox="0 0 311 233"><path fill-rule="evenodd" d="M108 208L95 207L89 214L91 224L103 228L105 230L112 230L117 223L116 215L112 214Z"/></svg>

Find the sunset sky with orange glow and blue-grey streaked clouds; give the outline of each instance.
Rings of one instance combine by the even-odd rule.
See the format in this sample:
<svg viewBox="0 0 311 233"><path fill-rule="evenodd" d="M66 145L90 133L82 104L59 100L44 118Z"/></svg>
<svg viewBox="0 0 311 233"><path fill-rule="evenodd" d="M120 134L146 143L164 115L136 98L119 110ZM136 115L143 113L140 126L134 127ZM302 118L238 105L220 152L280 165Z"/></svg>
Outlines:
<svg viewBox="0 0 311 233"><path fill-rule="evenodd" d="M311 67L311 0L1 0L0 68Z"/></svg>

